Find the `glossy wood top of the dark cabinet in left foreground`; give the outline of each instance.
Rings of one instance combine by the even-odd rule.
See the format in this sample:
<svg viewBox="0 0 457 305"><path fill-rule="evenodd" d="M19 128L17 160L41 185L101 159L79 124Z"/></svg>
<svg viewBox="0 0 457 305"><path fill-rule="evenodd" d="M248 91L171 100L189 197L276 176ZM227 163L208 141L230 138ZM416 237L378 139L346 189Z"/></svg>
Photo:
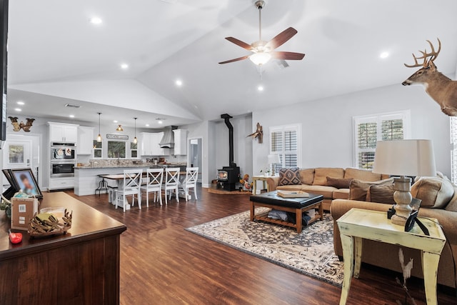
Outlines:
<svg viewBox="0 0 457 305"><path fill-rule="evenodd" d="M0 261L31 254L34 251L55 249L76 242L121 234L127 229L121 222L106 216L64 192L44 193L43 196L39 210L50 206L63 206L69 211L73 211L71 229L66 234L39 239L31 239L26 231L13 230L23 234L21 244L14 245L9 242L9 219L4 211L0 211Z"/></svg>

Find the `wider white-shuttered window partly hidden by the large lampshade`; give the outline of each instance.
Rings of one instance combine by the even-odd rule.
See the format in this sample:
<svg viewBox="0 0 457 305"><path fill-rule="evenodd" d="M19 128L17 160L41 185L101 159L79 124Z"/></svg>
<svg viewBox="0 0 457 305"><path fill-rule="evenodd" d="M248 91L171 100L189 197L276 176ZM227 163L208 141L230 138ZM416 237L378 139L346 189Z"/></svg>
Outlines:
<svg viewBox="0 0 457 305"><path fill-rule="evenodd" d="M409 139L409 117L409 111L354 117L356 168L373 169L377 141Z"/></svg>

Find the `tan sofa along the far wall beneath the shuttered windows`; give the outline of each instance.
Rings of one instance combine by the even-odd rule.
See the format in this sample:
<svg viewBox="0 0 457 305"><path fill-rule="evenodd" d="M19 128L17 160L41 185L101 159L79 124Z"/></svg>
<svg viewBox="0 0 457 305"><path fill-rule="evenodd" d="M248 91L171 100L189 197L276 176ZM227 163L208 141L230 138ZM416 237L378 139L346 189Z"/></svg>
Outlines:
<svg viewBox="0 0 457 305"><path fill-rule="evenodd" d="M267 179L268 189L306 191L312 194L323 196L323 209L330 211L331 201L333 199L348 199L349 189L338 189L329 186L327 177L333 179L356 179L362 181L379 181L388 178L386 175L373 174L371 171L363 169L342 169L338 167L319 167L316 169L300 169L301 184L296 185L279 185L279 177L269 177Z"/></svg>

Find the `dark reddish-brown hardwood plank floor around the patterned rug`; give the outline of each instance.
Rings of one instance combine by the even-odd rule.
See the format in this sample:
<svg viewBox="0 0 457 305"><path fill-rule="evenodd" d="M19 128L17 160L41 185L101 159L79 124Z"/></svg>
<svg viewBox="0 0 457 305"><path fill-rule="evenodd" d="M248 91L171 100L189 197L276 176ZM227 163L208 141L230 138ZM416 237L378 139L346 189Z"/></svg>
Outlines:
<svg viewBox="0 0 457 305"><path fill-rule="evenodd" d="M185 228L248 210L248 195L210 194L168 206L151 204L124 213L107 195L75 196L127 226L121 235L121 304L338 304L341 289L276 266ZM404 299L398 274L363 266L348 304L396 304ZM423 282L408 285L425 304ZM457 304L438 291L439 304Z"/></svg>

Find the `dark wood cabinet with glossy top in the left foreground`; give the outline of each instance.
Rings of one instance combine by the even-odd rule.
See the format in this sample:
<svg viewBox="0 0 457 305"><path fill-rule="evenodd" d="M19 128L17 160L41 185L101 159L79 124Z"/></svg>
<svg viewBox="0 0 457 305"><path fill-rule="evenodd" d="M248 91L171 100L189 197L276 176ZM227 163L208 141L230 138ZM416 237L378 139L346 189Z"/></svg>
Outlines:
<svg viewBox="0 0 457 305"><path fill-rule="evenodd" d="M39 209L73 211L69 232L21 244L9 242L0 216L2 304L119 304L120 234L126 226L63 193L45 193Z"/></svg>

